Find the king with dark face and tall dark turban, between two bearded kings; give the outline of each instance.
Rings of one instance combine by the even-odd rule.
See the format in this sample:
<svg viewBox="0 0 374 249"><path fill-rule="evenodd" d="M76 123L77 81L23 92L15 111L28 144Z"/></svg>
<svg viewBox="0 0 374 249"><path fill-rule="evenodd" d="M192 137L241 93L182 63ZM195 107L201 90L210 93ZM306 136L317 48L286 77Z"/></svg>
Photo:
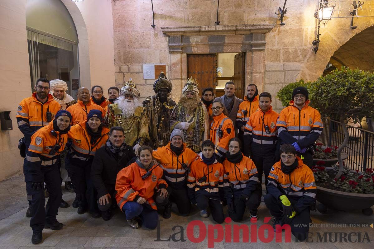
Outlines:
<svg viewBox="0 0 374 249"><path fill-rule="evenodd" d="M143 106L147 108L149 117L150 145L153 149L166 146L170 140L170 114L175 106L174 100L169 98L173 86L166 75L161 72L159 78L153 83L156 95L147 97Z"/></svg>

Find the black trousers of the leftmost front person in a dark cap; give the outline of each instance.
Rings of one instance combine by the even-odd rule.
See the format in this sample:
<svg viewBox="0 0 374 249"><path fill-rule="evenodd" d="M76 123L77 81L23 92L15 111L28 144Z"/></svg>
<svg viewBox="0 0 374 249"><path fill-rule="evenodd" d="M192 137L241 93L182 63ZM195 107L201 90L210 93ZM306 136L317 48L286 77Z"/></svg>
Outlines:
<svg viewBox="0 0 374 249"><path fill-rule="evenodd" d="M49 190L49 198L45 207L44 186L40 190L33 190L31 186L32 181L26 182L26 191L29 200L31 199L32 208L30 227L34 232L41 232L45 223L52 223L56 220L58 207L62 198L61 177L58 165L42 166L41 171L44 175L44 182Z"/></svg>

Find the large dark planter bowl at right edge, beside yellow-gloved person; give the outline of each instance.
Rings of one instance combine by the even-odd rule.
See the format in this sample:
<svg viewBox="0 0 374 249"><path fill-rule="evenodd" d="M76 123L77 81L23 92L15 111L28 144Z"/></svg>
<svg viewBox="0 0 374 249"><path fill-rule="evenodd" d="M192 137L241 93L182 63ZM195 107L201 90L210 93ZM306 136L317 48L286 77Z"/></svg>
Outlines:
<svg viewBox="0 0 374 249"><path fill-rule="evenodd" d="M374 194L347 193L317 186L316 199L322 203L317 206L321 213L331 208L341 211L361 209L365 215L373 214Z"/></svg>

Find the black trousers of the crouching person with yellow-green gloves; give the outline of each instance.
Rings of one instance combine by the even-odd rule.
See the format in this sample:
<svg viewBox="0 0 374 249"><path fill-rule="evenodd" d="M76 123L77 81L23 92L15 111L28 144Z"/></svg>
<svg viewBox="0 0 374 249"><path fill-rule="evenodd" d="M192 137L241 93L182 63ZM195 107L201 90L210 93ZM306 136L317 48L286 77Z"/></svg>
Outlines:
<svg viewBox="0 0 374 249"><path fill-rule="evenodd" d="M291 205L296 203L295 200L289 199ZM269 209L270 214L273 217L281 218L283 215L282 212L282 202L279 199L276 199L271 194L266 194L264 197L264 202L266 207ZM292 218L291 224L291 233L299 240L303 241L308 236L309 232L309 222L310 222L310 209L306 208L301 211L300 214L296 214L294 218ZM297 226L296 226L297 224Z"/></svg>

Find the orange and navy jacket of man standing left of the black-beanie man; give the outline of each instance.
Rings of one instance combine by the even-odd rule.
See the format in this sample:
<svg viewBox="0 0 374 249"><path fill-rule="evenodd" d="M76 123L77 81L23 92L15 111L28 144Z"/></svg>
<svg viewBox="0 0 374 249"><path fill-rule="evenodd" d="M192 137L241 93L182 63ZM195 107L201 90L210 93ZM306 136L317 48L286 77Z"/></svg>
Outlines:
<svg viewBox="0 0 374 249"><path fill-rule="evenodd" d="M274 153L277 143L276 123L279 114L273 111L263 112L261 109L253 113L244 130L244 154L248 156L249 150L261 154ZM266 133L265 126L269 127L270 134Z"/></svg>

